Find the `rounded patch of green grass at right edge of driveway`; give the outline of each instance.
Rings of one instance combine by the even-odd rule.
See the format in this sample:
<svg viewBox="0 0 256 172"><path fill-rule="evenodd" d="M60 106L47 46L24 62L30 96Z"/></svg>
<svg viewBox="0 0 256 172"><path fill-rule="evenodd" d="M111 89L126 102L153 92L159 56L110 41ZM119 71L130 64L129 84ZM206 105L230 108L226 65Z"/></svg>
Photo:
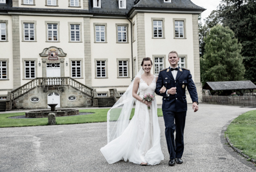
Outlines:
<svg viewBox="0 0 256 172"><path fill-rule="evenodd" d="M256 110L248 111L233 120L226 133L235 148L256 160Z"/></svg>

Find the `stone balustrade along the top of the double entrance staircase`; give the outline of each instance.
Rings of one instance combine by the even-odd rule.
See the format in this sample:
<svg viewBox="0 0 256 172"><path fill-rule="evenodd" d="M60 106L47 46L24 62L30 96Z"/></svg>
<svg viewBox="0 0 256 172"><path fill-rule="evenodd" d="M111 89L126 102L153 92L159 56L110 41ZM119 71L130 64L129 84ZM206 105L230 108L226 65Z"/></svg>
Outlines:
<svg viewBox="0 0 256 172"><path fill-rule="evenodd" d="M34 89L35 87L48 87L48 86L72 86L75 89L86 93L89 97L94 97L93 88L82 84L81 82L75 81L70 77L40 77L35 78L32 81L12 90L12 99L16 99L17 97L27 93L28 91Z"/></svg>

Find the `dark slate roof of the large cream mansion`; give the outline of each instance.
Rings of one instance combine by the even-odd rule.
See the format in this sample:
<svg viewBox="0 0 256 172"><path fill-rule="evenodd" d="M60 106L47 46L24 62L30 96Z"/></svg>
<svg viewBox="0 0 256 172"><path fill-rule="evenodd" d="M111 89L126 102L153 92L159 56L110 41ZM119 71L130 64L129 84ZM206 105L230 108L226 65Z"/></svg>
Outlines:
<svg viewBox="0 0 256 172"><path fill-rule="evenodd" d="M200 14L204 8L197 6L190 0L172 0L172 3L164 3L164 0L126 0L126 9L119 8L118 0L101 0L101 8L94 8L93 0L89 0L88 10L75 9L59 9L59 8L28 8L28 7L12 7L11 1L6 1L6 4L0 5L0 11L8 12L50 12L66 13L66 14L90 14L90 15L119 15L126 17L132 14L135 9L139 10L181 10L195 11Z"/></svg>

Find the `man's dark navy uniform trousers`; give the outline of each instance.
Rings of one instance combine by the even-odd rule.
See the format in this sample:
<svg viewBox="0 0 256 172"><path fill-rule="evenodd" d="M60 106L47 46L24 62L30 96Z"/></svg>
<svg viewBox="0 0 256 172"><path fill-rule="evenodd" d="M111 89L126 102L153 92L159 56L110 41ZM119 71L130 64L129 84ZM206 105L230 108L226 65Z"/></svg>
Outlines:
<svg viewBox="0 0 256 172"><path fill-rule="evenodd" d="M165 137L170 159L181 158L184 151L183 133L186 121L186 111L162 111L164 116ZM174 139L174 131L176 131Z"/></svg>

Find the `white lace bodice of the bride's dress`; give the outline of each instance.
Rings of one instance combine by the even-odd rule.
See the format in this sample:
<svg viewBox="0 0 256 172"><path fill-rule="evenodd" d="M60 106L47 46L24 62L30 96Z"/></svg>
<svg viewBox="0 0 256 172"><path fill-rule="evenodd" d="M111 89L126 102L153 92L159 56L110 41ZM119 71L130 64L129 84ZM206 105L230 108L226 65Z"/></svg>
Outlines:
<svg viewBox="0 0 256 172"><path fill-rule="evenodd" d="M143 95L145 93L151 93L152 95L154 95L155 93L155 87L156 87L156 76L153 76L153 81L150 83L150 85L148 85L145 81L143 81L143 79L141 79L141 76L139 76L140 78L140 82L139 82L139 96L143 97Z"/></svg>

